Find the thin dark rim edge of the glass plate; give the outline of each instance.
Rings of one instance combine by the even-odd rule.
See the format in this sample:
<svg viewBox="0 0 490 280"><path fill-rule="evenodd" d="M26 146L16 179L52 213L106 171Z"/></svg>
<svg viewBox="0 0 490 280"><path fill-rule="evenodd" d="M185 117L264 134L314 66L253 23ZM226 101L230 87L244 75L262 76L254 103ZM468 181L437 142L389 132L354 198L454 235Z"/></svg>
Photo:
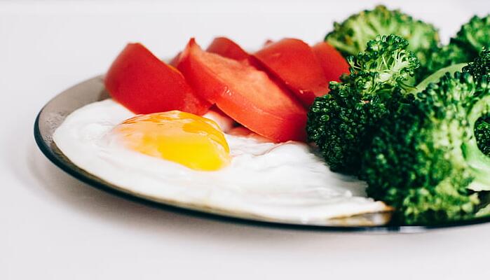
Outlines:
<svg viewBox="0 0 490 280"><path fill-rule="evenodd" d="M482 223L489 223L490 216L472 218L463 221L451 221L447 223L434 223L430 225L400 225L395 223L388 223L386 225L308 225L308 224L300 224L300 223L287 223L283 221L261 221L256 220L254 218L245 218L239 216L231 216L227 214L219 214L212 213L210 211L203 211L198 209L189 209L175 204L167 204L164 202L156 202L154 200L149 200L145 197L139 197L132 193L126 193L123 190L119 190L117 188L112 188L109 184L105 184L103 181L97 181L90 176L86 176L85 174L79 172L74 169L71 165L67 164L62 160L60 155L57 155L53 148L48 146L46 141L44 140L46 135L43 135L40 127L40 119L41 115L45 111L46 107L53 102L57 97L60 97L62 94L67 94L74 87L79 85L83 85L84 83L88 83L95 79L100 79L102 75L94 76L92 78L88 78L86 80L81 81L80 83L76 83L72 85L67 90L63 90L59 94L56 94L53 98L51 98L43 107L39 110L36 115L36 119L34 120L34 140L36 141L36 145L38 146L41 153L50 160L56 167L62 169L65 173L72 176L74 179L82 181L86 183L88 186L96 188L97 190L102 190L105 193L109 193L111 195L116 195L117 197L121 197L124 200L128 200L130 202L136 202L139 204L144 204L145 206L162 209L165 211L170 211L172 213L184 214L186 216L193 216L198 218L206 218L212 221L220 221L226 223L238 223L240 225L252 225L259 226L262 228L277 228L277 229L289 229L289 230L307 230L307 231L326 231L326 232L400 232L400 233L413 233L413 232L425 232L427 230L435 230L442 228L455 228L465 225L477 225ZM80 107L79 107L80 108ZM51 135L52 136L52 135ZM73 165L73 164L72 164Z"/></svg>

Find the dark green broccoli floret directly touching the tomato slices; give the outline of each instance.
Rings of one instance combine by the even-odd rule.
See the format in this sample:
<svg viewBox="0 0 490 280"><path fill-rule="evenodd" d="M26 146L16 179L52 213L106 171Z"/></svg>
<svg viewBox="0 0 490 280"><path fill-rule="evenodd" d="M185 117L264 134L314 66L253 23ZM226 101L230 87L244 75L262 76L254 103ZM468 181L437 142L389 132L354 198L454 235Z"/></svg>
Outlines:
<svg viewBox="0 0 490 280"><path fill-rule="evenodd" d="M376 36L364 53L348 57L351 73L330 83L308 112L306 131L335 172L357 174L372 126L396 109L413 87L419 63L399 36Z"/></svg>

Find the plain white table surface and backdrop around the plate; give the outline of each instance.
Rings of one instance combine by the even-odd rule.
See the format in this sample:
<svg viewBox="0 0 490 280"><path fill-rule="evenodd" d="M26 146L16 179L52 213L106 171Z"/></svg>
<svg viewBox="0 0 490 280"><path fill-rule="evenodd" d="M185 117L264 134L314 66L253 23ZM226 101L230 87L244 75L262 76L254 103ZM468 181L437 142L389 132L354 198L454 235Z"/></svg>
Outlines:
<svg viewBox="0 0 490 280"><path fill-rule="evenodd" d="M161 57L190 36L315 43L332 20L379 1L298 2L0 1L0 279L488 279L490 224L373 235L210 221L91 188L34 144L43 104L104 73L128 41ZM389 3L433 22L443 41L490 11L484 0Z"/></svg>

